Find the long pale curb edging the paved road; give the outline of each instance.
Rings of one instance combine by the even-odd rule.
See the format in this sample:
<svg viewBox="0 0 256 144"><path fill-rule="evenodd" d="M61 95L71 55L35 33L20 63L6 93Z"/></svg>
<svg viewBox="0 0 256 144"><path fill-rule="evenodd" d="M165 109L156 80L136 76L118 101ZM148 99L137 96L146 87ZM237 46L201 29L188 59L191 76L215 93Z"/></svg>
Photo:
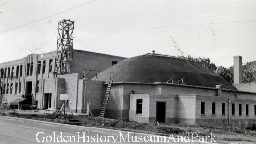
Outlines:
<svg viewBox="0 0 256 144"><path fill-rule="evenodd" d="M54 122L47 122L47 121L40 121L40 120L34 120L34 119L25 119L25 118L18 118L18 117L11 117L11 116L0 116L0 119L8 119L13 121L20 121L20 122L27 122L27 123L38 123L43 125L49 125L49 126L62 126L62 127L70 127L70 128L79 128L83 130L90 130L94 132L103 132L107 134L113 134L116 135L117 133L122 133L127 135L129 131L122 131L122 130L115 130L115 129L107 129L107 128L98 128L98 127L85 127L85 126L77 126L77 125L69 125L69 124L62 124L62 123L54 123ZM146 133L138 133L138 132L129 132L130 136L158 136L153 134L146 134ZM166 139L169 139L169 137L163 136ZM175 141L178 141L178 138L175 138ZM198 140L194 140L193 144L219 144L215 142L199 142Z"/></svg>

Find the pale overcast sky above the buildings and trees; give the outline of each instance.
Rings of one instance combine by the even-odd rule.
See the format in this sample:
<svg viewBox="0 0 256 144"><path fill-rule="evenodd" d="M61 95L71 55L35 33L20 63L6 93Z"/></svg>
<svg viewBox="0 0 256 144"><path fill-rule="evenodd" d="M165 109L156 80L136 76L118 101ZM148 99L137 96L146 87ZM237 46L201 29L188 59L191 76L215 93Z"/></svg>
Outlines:
<svg viewBox="0 0 256 144"><path fill-rule="evenodd" d="M63 18L75 21L74 49L124 57L156 50L225 67L235 55L256 59L254 0L0 0L0 62L56 50Z"/></svg>

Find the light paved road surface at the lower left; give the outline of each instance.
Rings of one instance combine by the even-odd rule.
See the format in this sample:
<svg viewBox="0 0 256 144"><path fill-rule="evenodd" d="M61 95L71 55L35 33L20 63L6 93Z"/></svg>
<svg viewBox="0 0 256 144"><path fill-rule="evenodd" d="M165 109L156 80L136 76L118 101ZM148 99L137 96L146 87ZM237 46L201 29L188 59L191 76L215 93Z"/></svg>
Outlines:
<svg viewBox="0 0 256 144"><path fill-rule="evenodd" d="M101 137L101 141L104 141L105 137L107 138L108 135L115 136L114 138L116 138L117 136L120 136L120 134L117 132L108 134L107 132L104 132L104 131L91 131L91 130L88 131L83 128L79 129L79 128L74 128L72 126L45 125L45 124L23 122L23 121L17 121L17 120L12 120L12 119L0 118L0 144L35 144L35 143L39 143L36 141L36 134L38 132L44 132L44 134L43 133L38 134L39 141L43 141L43 139L45 139L45 138L42 138L42 137L46 137L46 136L49 136L47 138L48 141L51 141L51 138L52 138L52 142L46 142L46 139L45 139L45 142L42 142L42 143L58 143L58 142L53 142L53 139L54 139L53 132L55 132L55 139L57 138L57 136L60 135L60 132L62 132L62 138L65 135L74 136L76 143L93 143L94 142L93 138L95 138L95 143L97 143L97 139L96 139L97 135L98 135L98 140L100 140L100 137ZM78 141L77 132L80 132L79 135L81 137L83 136L83 132L86 132L85 133L85 141L86 142L83 142L83 138L80 138L79 139L80 142L77 142ZM51 138L50 138L50 136L51 136ZM90 142L87 142L88 136L89 136ZM92 136L95 136L95 137L92 137ZM125 138L126 134L123 134L123 137ZM60 140L60 138L59 138L59 140ZM64 139L62 139L62 140L64 140ZM69 141L68 143L70 143L70 137L65 138L65 140ZM121 138L121 140L122 140L122 138ZM131 140L132 139L130 137L130 141ZM74 140L72 139L71 141L74 141ZM139 141L138 138L137 138L137 141ZM102 143L102 142L99 142L99 143ZM114 140L112 139L112 137L109 137L109 142L105 142L105 143L114 143ZM127 140L126 140L126 142L120 142L120 138L118 137L115 144L120 144L120 143L131 144L131 142L128 142ZM141 143L145 143L145 142L141 142ZM149 141L149 143L150 143L150 141Z"/></svg>

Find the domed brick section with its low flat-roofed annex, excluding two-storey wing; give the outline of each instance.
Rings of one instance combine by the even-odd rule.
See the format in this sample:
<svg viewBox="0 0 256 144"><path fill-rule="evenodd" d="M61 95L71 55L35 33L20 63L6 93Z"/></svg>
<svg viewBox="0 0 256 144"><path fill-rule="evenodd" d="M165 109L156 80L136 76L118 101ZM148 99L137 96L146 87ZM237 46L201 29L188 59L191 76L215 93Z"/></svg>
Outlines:
<svg viewBox="0 0 256 144"><path fill-rule="evenodd" d="M105 91L110 76L114 79L107 118L193 125L255 123L256 94L238 91L195 61L153 52L100 72Z"/></svg>

